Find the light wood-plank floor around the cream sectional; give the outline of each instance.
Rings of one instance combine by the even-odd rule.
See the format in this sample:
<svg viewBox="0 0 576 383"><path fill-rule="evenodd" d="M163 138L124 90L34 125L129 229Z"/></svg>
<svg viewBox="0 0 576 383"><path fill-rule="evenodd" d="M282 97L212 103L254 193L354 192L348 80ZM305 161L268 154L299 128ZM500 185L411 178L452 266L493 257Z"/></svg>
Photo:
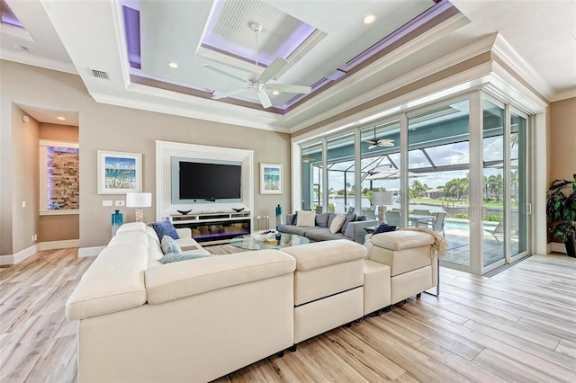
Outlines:
<svg viewBox="0 0 576 383"><path fill-rule="evenodd" d="M76 323L64 305L93 261L76 254L44 251L0 269L0 382L76 381ZM576 381L576 259L533 256L491 278L443 268L441 279L439 298L424 294L217 381Z"/></svg>

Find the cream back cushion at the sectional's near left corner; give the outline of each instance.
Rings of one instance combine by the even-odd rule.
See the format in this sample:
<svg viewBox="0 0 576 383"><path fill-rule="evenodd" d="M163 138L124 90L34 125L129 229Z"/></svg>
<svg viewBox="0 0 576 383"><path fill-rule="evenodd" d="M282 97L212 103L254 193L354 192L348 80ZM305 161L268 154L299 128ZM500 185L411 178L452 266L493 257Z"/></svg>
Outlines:
<svg viewBox="0 0 576 383"><path fill-rule="evenodd" d="M70 320L101 316L146 303L144 272L148 247L141 243L108 245L96 257L67 300Z"/></svg>

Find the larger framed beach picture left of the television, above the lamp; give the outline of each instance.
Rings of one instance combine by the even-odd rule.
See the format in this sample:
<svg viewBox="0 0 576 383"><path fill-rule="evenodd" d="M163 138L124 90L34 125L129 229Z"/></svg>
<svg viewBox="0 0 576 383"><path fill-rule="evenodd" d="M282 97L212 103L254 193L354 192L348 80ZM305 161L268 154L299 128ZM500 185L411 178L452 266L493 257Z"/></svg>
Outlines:
<svg viewBox="0 0 576 383"><path fill-rule="evenodd" d="M98 150L98 194L142 191L140 153Z"/></svg>

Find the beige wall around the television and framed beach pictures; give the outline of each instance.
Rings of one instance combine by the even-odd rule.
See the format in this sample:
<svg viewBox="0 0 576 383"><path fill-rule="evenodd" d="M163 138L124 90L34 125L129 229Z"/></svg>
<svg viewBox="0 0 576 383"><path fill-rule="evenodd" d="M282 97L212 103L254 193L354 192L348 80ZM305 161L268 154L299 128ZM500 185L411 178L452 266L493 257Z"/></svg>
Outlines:
<svg viewBox="0 0 576 383"><path fill-rule="evenodd" d="M24 66L9 61L1 61L0 82L2 83L2 174L7 176L16 173L4 169L19 158L6 145L5 137L10 138L17 129L16 120L12 120L12 104L38 105L46 108L65 109L79 113L79 146L80 146L80 246L105 245L110 240L110 219L113 208L103 208L103 200L123 199L118 195L98 195L96 183L96 151L114 150L142 153L143 190L156 190L155 140L185 142L215 147L238 147L254 150L255 183L262 162L284 165L284 183L290 183L290 140L284 133L275 133L260 129L248 129L229 124L211 121L194 120L176 117L151 111L122 108L94 102L87 94L79 76ZM4 112L8 111L8 112ZM4 131L9 130L9 131ZM38 139L38 137L36 137ZM7 156L4 150L7 149ZM18 149L19 150L19 149ZM16 152L17 150L14 150ZM34 150L35 163L38 163L38 150ZM4 162L7 157L10 162ZM14 157L14 159L13 159ZM20 159L20 158L19 158ZM37 178L36 178L37 179ZM0 195L2 199L2 254L14 254L31 245L34 234L31 227L25 227L20 219L4 219L4 206L9 209L15 205L13 196L22 192L14 183L6 184L7 191ZM30 188L28 185L27 188ZM32 186L33 188L33 186ZM35 190L38 187L36 185ZM283 195L260 195L258 184L255 184L255 215L274 217L275 206L280 203L284 211L289 211L290 188L284 189ZM27 191L33 193L34 191ZM7 196L5 194L10 194ZM35 200L38 200L36 198ZM15 209L15 208L14 208ZM35 209L38 209L36 206ZM144 209L144 218L153 220L156 216L155 206ZM37 210L36 210L37 211ZM121 208L124 221L134 220L133 209ZM30 216L26 222L35 222ZM14 226L18 224L18 227ZM30 226L32 226L31 224ZM9 233L8 233L9 232ZM4 245L7 237L18 237L14 244ZM4 248L9 249L5 252Z"/></svg>

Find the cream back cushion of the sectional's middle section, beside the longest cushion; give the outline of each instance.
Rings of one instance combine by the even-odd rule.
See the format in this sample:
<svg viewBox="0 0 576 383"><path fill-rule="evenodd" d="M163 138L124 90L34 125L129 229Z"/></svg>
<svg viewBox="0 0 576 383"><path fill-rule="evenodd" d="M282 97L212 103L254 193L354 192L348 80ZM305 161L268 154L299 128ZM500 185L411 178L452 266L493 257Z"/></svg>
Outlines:
<svg viewBox="0 0 576 383"><path fill-rule="evenodd" d="M365 246L345 239L284 247L282 251L294 257L298 272L362 259L366 254Z"/></svg>

